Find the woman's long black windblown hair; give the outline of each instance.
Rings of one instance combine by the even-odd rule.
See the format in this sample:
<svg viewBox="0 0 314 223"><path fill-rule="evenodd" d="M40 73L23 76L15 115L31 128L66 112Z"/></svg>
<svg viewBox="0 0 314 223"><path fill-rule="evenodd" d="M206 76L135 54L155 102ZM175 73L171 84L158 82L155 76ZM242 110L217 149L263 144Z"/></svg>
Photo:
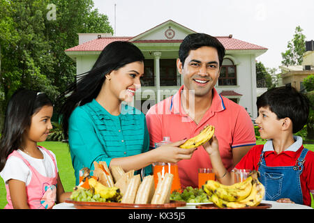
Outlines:
<svg viewBox="0 0 314 223"><path fill-rule="evenodd" d="M140 49L130 42L114 41L103 49L91 70L77 75L78 81L71 84L64 93L66 101L59 114L66 138L68 138L68 119L75 107L91 102L97 97L105 82L105 75L137 61L144 61Z"/></svg>

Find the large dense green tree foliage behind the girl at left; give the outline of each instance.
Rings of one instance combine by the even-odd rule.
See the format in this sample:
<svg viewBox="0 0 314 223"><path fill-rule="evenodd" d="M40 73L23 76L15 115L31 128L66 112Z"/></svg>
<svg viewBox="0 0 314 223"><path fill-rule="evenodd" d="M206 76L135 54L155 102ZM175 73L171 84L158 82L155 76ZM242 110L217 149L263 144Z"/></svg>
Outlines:
<svg viewBox="0 0 314 223"><path fill-rule="evenodd" d="M45 91L58 109L60 93L75 78L64 52L77 33L113 33L92 0L0 0L0 130L6 104L20 88Z"/></svg>

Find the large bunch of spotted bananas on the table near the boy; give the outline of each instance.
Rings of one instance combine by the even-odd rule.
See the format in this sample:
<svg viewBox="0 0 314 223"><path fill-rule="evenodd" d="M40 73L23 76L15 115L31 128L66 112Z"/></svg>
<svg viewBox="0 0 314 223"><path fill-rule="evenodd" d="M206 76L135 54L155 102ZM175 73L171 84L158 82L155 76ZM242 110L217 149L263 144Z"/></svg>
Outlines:
<svg viewBox="0 0 314 223"><path fill-rule="evenodd" d="M222 185L214 180L208 180L202 188L219 208L257 206L265 193L264 185L257 179L257 174L257 171L252 171L245 181L234 185Z"/></svg>

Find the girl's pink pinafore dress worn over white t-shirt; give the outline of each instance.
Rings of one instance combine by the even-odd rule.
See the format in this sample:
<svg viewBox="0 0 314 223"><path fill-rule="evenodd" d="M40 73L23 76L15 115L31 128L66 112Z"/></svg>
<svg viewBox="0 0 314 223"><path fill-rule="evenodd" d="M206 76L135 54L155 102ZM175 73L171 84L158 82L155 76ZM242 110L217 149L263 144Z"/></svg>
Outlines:
<svg viewBox="0 0 314 223"><path fill-rule="evenodd" d="M42 146L39 146L43 148ZM8 157L14 155L15 157L19 157L22 159L27 167L31 170L31 182L27 185L27 203L29 208L31 209L48 209L54 206L54 202L57 197L57 162L54 160L53 155L47 151L47 149L43 148L44 151L52 158L54 162L54 173L55 176L53 178L43 176L36 171L35 168L31 167L31 164L20 155L17 151L13 151ZM13 204L10 197L10 190L8 184L6 184L6 200L8 204L4 207L4 209L13 209Z"/></svg>

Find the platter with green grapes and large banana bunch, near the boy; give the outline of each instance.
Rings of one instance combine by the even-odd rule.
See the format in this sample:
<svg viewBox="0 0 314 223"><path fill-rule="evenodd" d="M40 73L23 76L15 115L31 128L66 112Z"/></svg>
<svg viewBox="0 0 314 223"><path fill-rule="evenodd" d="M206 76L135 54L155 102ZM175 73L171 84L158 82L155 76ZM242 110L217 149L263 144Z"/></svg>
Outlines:
<svg viewBox="0 0 314 223"><path fill-rule="evenodd" d="M186 187L183 192L172 192L170 200L185 201L200 209L265 209L269 203L261 203L265 189L258 180L258 171L251 171L246 180L233 185L223 185L207 180L202 188Z"/></svg>

